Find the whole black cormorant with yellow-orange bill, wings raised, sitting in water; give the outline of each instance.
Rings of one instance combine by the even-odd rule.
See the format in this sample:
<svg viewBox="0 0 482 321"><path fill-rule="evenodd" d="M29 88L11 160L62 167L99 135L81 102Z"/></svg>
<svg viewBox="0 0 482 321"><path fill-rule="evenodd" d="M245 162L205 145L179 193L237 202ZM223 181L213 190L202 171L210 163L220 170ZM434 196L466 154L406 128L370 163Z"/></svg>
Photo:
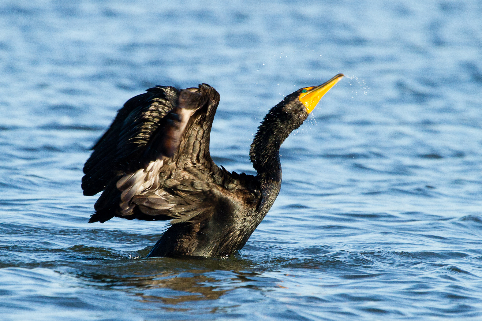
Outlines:
<svg viewBox="0 0 482 321"><path fill-rule="evenodd" d="M228 172L209 141L220 95L208 84L155 86L129 99L92 147L83 194L102 191L89 223L170 220L146 257L228 257L246 244L281 188L280 147L343 74L272 107L250 147L257 175Z"/></svg>

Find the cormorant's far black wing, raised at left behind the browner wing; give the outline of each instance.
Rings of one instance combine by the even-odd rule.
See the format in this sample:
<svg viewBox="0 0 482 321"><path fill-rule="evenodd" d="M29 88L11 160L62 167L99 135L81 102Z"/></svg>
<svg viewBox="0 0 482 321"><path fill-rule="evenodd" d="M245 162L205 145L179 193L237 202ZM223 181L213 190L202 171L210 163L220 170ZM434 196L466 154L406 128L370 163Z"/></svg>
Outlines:
<svg viewBox="0 0 482 321"><path fill-rule="evenodd" d="M157 86L124 104L85 162L84 195L104 190L118 171L135 171L142 166L143 153L173 110L178 94L174 87Z"/></svg>

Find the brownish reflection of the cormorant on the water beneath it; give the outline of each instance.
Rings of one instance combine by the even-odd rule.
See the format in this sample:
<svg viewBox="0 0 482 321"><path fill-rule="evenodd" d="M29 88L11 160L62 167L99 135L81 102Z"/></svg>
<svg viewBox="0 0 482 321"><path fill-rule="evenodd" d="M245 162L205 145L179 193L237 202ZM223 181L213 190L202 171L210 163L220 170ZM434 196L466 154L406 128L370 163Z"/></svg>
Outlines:
<svg viewBox="0 0 482 321"><path fill-rule="evenodd" d="M241 287L258 289L276 286L273 282L279 281L250 271L253 264L234 255L228 259L137 258L110 264L106 261L73 274L82 287L122 291L137 296L138 302L157 302L161 307L217 300Z"/></svg>

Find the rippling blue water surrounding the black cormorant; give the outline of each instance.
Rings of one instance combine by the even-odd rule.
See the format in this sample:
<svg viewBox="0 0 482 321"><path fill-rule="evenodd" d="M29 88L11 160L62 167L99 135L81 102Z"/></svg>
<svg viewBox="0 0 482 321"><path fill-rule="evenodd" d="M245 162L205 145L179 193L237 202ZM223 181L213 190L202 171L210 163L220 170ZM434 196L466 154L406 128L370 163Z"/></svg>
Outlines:
<svg viewBox="0 0 482 321"><path fill-rule="evenodd" d="M2 1L0 319L482 320L481 16L475 0ZM240 255L143 259L164 222L87 224L81 168L128 98L214 86L211 153L252 173L268 108L338 72Z"/></svg>

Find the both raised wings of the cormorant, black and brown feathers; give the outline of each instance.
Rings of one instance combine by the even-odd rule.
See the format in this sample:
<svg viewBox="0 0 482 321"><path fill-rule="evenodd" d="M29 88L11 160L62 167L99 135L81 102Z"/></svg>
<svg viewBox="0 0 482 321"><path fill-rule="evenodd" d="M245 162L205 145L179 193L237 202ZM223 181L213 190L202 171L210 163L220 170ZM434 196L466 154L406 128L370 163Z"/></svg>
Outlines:
<svg viewBox="0 0 482 321"><path fill-rule="evenodd" d="M84 194L105 189L89 222L114 216L192 221L222 212L235 199L255 207L254 176L229 174L209 155L218 103L219 94L206 84L157 87L130 99L85 164Z"/></svg>

